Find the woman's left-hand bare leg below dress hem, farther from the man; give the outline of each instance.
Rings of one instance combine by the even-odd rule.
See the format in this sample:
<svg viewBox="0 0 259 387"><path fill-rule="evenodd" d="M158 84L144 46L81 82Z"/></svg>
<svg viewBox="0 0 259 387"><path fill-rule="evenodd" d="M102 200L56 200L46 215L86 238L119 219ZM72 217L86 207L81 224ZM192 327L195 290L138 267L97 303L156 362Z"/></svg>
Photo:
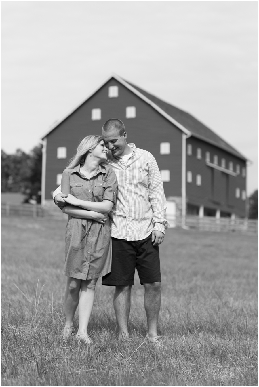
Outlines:
<svg viewBox="0 0 259 387"><path fill-rule="evenodd" d="M64 338L69 337L73 331L73 320L77 305L79 303L81 282L82 280L78 278L67 278L67 286L64 296L66 322L62 334Z"/></svg>

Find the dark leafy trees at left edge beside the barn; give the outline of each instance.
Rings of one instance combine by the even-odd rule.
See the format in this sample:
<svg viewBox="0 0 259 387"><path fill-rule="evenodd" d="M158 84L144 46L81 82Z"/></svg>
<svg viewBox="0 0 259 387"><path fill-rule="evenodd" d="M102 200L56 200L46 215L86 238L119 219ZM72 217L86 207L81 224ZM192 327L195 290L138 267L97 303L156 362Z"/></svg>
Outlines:
<svg viewBox="0 0 259 387"><path fill-rule="evenodd" d="M20 192L24 202L41 202L42 146L28 154L17 149L14 154L2 150L2 192Z"/></svg>

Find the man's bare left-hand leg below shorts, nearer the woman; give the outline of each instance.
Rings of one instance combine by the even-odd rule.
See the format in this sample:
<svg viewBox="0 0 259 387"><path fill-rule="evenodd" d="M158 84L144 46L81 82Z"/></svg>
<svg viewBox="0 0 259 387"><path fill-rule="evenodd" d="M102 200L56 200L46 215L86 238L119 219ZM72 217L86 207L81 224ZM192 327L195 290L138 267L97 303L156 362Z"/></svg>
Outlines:
<svg viewBox="0 0 259 387"><path fill-rule="evenodd" d="M113 306L119 326L119 340L129 337L130 292L131 286L116 286L113 296Z"/></svg>

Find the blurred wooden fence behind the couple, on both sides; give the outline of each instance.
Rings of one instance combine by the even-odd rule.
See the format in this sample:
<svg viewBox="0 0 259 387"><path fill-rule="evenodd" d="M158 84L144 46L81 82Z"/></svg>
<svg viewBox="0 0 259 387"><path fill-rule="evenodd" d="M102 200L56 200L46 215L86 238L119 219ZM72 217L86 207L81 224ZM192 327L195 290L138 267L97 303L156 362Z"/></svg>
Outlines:
<svg viewBox="0 0 259 387"><path fill-rule="evenodd" d="M67 218L67 215L63 214L54 204L43 209L40 204L13 204L8 202L2 203L2 216ZM168 216L168 221L173 227L180 227L183 224L181 218L174 216ZM185 226L201 231L235 232L238 234L257 235L257 220L254 219L216 219L212 216L204 216L201 218L196 215L188 215L185 218Z"/></svg>

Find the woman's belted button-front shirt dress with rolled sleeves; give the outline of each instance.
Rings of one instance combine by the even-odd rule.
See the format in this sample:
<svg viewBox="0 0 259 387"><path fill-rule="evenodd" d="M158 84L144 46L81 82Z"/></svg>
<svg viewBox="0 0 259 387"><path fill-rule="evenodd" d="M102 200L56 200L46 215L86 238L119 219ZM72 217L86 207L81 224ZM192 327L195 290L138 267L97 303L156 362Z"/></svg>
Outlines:
<svg viewBox="0 0 259 387"><path fill-rule="evenodd" d="M111 200L115 204L117 178L108 165L99 165L97 172L87 178L80 166L65 169L62 174L63 194L89 202ZM65 233L65 266L63 274L79 279L105 276L111 271L111 224L92 219L78 219L69 215Z"/></svg>

